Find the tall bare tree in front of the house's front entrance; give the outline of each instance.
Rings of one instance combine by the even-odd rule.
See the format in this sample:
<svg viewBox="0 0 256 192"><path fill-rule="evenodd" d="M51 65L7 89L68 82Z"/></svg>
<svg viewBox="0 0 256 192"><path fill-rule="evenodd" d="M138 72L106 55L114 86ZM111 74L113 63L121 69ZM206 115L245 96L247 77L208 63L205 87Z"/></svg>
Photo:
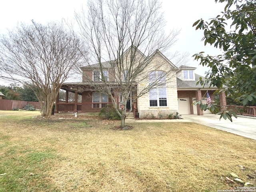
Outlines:
<svg viewBox="0 0 256 192"><path fill-rule="evenodd" d="M165 20L160 11L159 0L93 0L88 2L88 13L83 10L75 14L80 35L90 48L90 60L81 69L96 70L100 78L96 82L84 72L84 81L111 98L122 118L121 128L125 124L127 100L134 101L163 86L163 80L171 80L175 74L175 66L159 58L161 52L176 42L178 31L165 34ZM163 67L164 73L152 73ZM110 71L108 76L105 70ZM115 100L117 94L121 94L124 104L122 113Z"/></svg>

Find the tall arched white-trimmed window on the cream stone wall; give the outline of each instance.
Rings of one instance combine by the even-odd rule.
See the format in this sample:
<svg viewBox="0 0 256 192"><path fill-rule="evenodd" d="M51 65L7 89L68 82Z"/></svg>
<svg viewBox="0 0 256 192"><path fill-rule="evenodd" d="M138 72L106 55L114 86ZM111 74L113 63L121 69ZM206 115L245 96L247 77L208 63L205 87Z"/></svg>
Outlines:
<svg viewBox="0 0 256 192"><path fill-rule="evenodd" d="M167 90L166 90L166 77L162 71L153 71L149 74L150 84L159 84L157 88L149 91L149 106L150 107L163 107L167 106Z"/></svg>

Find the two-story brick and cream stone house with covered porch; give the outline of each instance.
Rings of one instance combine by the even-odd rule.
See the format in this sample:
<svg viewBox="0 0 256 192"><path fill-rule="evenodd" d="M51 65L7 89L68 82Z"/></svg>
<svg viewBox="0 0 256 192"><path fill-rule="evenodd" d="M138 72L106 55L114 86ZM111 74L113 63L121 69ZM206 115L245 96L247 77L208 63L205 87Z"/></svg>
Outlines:
<svg viewBox="0 0 256 192"><path fill-rule="evenodd" d="M140 52L139 52L140 54ZM142 55L143 56L143 55ZM137 57L137 56L136 56ZM161 67L157 69L154 68L156 62L162 62ZM102 63L103 75L97 71L98 64L81 67L84 75L90 77L92 82L97 82L100 86L103 84L101 79L104 78L109 83L116 85L114 72L110 70L109 62ZM213 100L213 93L216 88L204 88L200 84L196 85L200 76L195 74L194 67L180 66L176 67L170 60L168 60L161 52L156 50L154 53L154 58L151 60L150 68L154 69L150 75L147 74L147 78L143 74L138 77L136 82L132 84L134 91L133 95L138 94L145 84L150 83L151 79L154 77L164 74L167 70L172 70L172 75L170 78L163 78L163 86L159 88L154 88L150 90L143 96L139 97L133 105L130 105L132 100L128 100L127 109L133 106L132 110L136 110L138 117L143 117L147 114L157 116L158 113L162 113L163 116L166 114L176 113L179 114L198 114L203 115L203 113L210 113L210 111L203 112L200 110L199 106L193 106L192 104L196 100L203 99L206 102L206 91L210 94ZM66 102L59 102L56 100L55 111L58 112L99 112L101 108L111 104L110 98L105 94L93 91L91 82L88 82L83 75L82 82L74 83L64 83L61 89L66 90ZM124 74L123 74L124 75ZM168 80L167 80L168 79ZM166 82L165 82L166 80ZM75 94L75 102L68 102L68 92L73 92ZM82 96L82 102L78 102L78 94ZM121 108L122 98L118 94L118 87L116 86L116 91L113 91L116 102ZM220 105L226 106L226 97L224 92L220 93Z"/></svg>

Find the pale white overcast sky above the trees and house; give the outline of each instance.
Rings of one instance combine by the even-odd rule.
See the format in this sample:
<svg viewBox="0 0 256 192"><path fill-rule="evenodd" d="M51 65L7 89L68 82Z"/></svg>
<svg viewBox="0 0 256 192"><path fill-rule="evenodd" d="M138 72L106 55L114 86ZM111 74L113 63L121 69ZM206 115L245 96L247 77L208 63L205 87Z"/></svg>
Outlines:
<svg viewBox="0 0 256 192"><path fill-rule="evenodd" d="M60 21L62 18L74 17L74 10L80 11L86 6L87 0L2 0L0 3L0 34L6 29L14 28L18 22L46 23ZM189 52L190 60L186 65L198 69L196 73L204 75L206 68L198 66L191 56L205 51L207 54L218 54L219 51L201 42L203 31L195 30L192 24L200 19L204 20L217 16L224 4L215 3L214 0L162 0L162 7L168 28L181 29L178 42L172 50ZM175 64L175 63L174 63Z"/></svg>

